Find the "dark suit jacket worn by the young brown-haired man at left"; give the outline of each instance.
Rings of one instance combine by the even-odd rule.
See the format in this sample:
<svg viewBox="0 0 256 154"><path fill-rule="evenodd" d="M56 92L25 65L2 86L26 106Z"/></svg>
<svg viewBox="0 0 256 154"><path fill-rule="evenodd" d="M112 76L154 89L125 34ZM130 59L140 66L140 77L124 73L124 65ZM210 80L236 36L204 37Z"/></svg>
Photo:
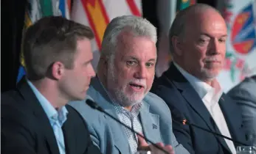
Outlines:
<svg viewBox="0 0 256 154"><path fill-rule="evenodd" d="M86 123L71 106L63 124L67 154L100 153ZM58 154L48 117L24 78L18 88L1 95L1 153Z"/></svg>

